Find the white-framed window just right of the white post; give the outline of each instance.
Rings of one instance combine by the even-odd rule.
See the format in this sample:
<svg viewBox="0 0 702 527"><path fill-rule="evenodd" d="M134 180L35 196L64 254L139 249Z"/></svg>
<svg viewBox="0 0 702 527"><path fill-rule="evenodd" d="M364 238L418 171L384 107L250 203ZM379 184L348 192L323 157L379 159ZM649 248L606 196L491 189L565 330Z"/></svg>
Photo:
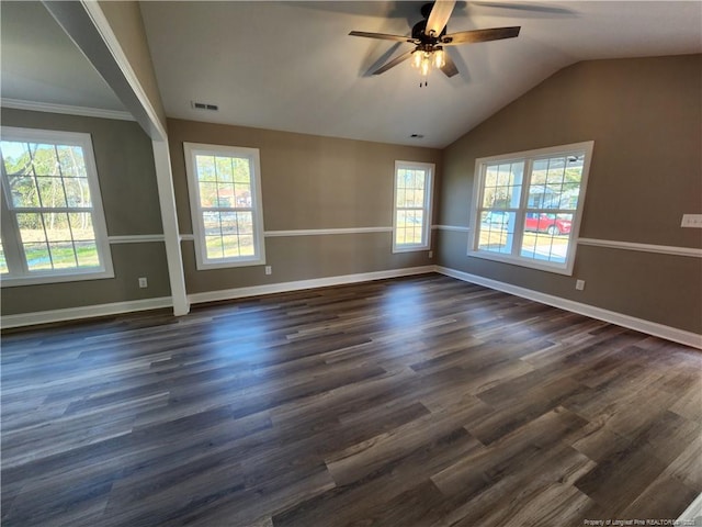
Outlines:
<svg viewBox="0 0 702 527"><path fill-rule="evenodd" d="M183 147L197 269L265 264L259 150Z"/></svg>

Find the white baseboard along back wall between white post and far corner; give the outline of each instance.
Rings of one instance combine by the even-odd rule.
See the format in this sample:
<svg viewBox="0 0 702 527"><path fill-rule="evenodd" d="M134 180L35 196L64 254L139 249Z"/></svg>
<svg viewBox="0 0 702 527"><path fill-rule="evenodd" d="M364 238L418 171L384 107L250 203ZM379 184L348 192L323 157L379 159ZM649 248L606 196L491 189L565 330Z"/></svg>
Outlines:
<svg viewBox="0 0 702 527"><path fill-rule="evenodd" d="M339 277L314 278L310 280L297 280L294 282L280 282L265 285L252 285L249 288L225 289L220 291L207 291L188 295L191 304L203 302L216 302L220 300L242 299L246 296L259 296L261 294L287 293L303 289L327 288L330 285L343 285L347 283L369 282L386 278L409 277L412 274L426 274L434 272L434 266L407 267L404 269L388 269L386 271L361 272L358 274L342 274Z"/></svg>

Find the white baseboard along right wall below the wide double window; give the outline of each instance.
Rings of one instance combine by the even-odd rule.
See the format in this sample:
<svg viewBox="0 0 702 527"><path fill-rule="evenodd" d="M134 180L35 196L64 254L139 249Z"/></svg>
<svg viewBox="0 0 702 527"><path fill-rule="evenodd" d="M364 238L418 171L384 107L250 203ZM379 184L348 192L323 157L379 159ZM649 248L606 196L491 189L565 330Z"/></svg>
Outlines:
<svg viewBox="0 0 702 527"><path fill-rule="evenodd" d="M534 302L553 305L554 307L597 318L598 321L609 322L647 335L653 335L655 337L672 340L673 343L684 344L686 346L702 349L702 335L698 335L697 333L686 332L683 329L666 326L656 322L644 321L643 318L636 318L634 316L603 310L602 307L596 307L589 304L582 304L573 300L562 299L559 296L553 296L532 289L520 288L519 285L512 285L511 283L500 282L489 278L479 277L477 274L450 269L448 267L435 266L434 270L441 274L445 274L446 277L476 283L478 285L484 285L516 296L533 300Z"/></svg>

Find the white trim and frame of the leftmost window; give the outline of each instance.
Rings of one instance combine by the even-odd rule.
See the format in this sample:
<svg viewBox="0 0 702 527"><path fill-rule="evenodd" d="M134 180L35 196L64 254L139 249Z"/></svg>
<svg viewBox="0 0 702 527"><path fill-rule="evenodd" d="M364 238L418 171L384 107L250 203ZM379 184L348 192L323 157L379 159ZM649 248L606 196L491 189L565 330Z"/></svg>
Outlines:
<svg viewBox="0 0 702 527"><path fill-rule="evenodd" d="M26 262L19 259L22 251L20 249L21 236L16 222L12 218L12 213L7 206L2 206L2 242L5 246L4 253L8 260L14 259L14 273L3 274L0 279L2 288L18 285L35 285L43 283L57 282L75 282L81 280L100 280L114 278L114 268L112 264L112 254L110 251L110 240L107 237L107 226L105 223L105 214L102 206L102 194L100 192L100 180L98 178L98 166L95 165L95 155L92 148L92 138L90 134L79 132L64 132L56 130L41 128L21 128L13 126L2 126L2 141L27 142L27 143L56 143L60 145L80 146L83 149L83 160L86 161L86 172L88 176L88 187L92 202L92 221L95 231L95 246L101 267L90 269L60 269L60 270L39 270L30 271ZM2 162L2 173L4 181L4 162ZM2 199L9 205L12 203L12 197L4 182ZM7 234L7 235L5 235ZM8 246L14 245L14 249L8 251ZM8 261L8 265L10 262ZM21 269L20 272L16 269Z"/></svg>

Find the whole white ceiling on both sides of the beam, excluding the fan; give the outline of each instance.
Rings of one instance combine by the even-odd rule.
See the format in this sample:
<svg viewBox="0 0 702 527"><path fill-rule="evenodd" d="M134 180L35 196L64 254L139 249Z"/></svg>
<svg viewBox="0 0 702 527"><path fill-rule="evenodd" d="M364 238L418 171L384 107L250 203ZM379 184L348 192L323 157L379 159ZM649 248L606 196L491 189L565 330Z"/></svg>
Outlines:
<svg viewBox="0 0 702 527"><path fill-rule="evenodd" d="M700 1L491 0L458 2L449 32L521 25L521 34L454 47L455 77L433 72L419 88L409 64L370 75L410 45L348 33L408 35L422 3L147 1L141 13L169 116L432 147L569 64L702 53ZM44 8L10 4L1 4L3 98L123 108L57 26L44 31L53 23Z"/></svg>

